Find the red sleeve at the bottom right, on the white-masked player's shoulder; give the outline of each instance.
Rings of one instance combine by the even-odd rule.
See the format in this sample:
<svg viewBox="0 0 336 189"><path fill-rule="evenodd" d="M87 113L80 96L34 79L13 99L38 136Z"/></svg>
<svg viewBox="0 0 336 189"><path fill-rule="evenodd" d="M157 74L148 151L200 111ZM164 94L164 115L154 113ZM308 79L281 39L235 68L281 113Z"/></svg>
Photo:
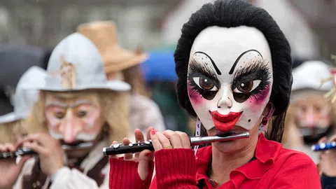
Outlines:
<svg viewBox="0 0 336 189"><path fill-rule="evenodd" d="M321 181L317 167L308 155L296 153L283 163L269 188L319 189Z"/></svg>

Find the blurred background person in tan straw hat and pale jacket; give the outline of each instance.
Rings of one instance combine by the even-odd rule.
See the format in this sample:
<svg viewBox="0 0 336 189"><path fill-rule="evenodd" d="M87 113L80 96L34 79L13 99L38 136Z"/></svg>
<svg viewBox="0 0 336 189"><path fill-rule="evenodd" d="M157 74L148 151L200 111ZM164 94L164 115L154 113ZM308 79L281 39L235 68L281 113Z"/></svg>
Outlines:
<svg viewBox="0 0 336 189"><path fill-rule="evenodd" d="M97 21L79 25L77 31L83 34L97 46L102 55L104 69L109 80L124 80L132 86L130 101L130 134L140 129L146 132L148 127L155 130L165 130L165 123L158 104L149 99L146 94L144 77L140 64L148 59L148 55L141 52L126 50L118 44L116 24L113 21Z"/></svg>

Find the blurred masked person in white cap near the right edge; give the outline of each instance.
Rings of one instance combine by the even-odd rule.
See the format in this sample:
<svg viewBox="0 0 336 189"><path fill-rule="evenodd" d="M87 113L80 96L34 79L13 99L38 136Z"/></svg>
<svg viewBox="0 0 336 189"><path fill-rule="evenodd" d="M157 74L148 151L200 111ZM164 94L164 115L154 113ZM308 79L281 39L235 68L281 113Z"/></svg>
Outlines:
<svg viewBox="0 0 336 189"><path fill-rule="evenodd" d="M286 113L283 146L309 155L316 164L319 154L311 145L335 130L335 108L323 96L331 90L329 66L320 61L303 62L293 69L291 103Z"/></svg>

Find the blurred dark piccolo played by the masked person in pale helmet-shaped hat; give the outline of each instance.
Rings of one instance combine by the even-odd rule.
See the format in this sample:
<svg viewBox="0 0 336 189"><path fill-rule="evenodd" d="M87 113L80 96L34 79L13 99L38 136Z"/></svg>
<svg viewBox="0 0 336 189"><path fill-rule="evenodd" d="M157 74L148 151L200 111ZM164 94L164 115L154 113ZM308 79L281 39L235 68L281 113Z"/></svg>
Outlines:
<svg viewBox="0 0 336 189"><path fill-rule="evenodd" d="M83 148L90 148L93 146L92 142L85 142L80 143L76 146L69 146L69 145L62 145L64 151L71 151L71 150L78 150ZM18 148L15 152L3 152L0 153L0 160L1 159L8 159L8 158L17 158L18 156L24 155L36 155L37 153L32 151L29 148Z"/></svg>

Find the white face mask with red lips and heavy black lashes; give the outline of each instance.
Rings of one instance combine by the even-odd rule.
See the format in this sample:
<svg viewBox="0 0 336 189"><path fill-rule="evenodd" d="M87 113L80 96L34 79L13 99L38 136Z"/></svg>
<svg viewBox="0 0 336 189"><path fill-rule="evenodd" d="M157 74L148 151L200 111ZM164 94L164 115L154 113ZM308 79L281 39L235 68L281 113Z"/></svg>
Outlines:
<svg viewBox="0 0 336 189"><path fill-rule="evenodd" d="M273 71L269 45L254 27L208 27L195 38L188 94L207 130L251 130L269 102Z"/></svg>

